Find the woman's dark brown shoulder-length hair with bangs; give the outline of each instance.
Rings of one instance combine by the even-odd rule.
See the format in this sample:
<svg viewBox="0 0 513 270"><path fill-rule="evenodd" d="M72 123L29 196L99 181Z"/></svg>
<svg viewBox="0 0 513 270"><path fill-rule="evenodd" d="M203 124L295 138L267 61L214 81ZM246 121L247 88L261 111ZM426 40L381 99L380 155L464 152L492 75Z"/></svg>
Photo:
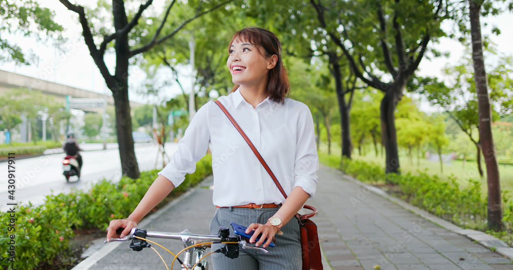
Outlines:
<svg viewBox="0 0 513 270"><path fill-rule="evenodd" d="M262 56L266 59L271 57L273 54L278 56L276 65L269 72L267 91L269 92L269 99L278 103L283 103L285 101L285 96L290 91L290 85L287 78L287 71L283 66L281 55L282 48L278 37L269 30L259 27L247 27L233 35L228 48L231 47L235 38L240 38L241 40L251 43L257 48L261 55L262 52L260 51L260 48L263 48L265 55ZM239 88L239 85L233 86L232 92L237 90L237 88Z"/></svg>

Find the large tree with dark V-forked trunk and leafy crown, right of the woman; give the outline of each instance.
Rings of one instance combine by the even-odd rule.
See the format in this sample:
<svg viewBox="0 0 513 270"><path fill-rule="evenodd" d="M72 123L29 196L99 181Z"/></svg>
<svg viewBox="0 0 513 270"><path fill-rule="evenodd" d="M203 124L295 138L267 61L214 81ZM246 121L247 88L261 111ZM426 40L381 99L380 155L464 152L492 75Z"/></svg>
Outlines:
<svg viewBox="0 0 513 270"><path fill-rule="evenodd" d="M380 119L385 172L399 173L394 112L429 41L444 35L440 23L447 7L442 0L326 2L310 0L320 26L342 50L354 75L384 93ZM389 82L386 77L391 77Z"/></svg>

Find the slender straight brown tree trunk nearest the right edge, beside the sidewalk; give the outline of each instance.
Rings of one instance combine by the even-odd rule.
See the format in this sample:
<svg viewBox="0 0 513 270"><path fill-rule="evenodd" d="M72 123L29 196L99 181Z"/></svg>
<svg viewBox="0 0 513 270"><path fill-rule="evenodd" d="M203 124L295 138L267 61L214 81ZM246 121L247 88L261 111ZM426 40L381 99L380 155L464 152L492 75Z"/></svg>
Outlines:
<svg viewBox="0 0 513 270"><path fill-rule="evenodd" d="M469 0L469 2L472 60L479 108L479 137L486 164L486 178L488 183L488 227L490 229L501 230L503 229L501 185L499 181L499 164L497 162L494 138L491 134L490 96L488 95L481 23L479 21L481 5L477 5L475 0Z"/></svg>

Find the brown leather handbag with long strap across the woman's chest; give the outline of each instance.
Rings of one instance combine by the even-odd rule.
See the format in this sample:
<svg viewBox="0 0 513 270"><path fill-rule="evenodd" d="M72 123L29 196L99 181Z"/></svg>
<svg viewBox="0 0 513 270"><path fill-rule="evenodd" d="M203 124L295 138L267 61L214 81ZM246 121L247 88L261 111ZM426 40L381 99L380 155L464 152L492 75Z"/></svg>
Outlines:
<svg viewBox="0 0 513 270"><path fill-rule="evenodd" d="M231 123L235 127L237 131L242 135L244 140L248 143L249 147L253 151L253 153L257 156L257 158L260 160L260 163L262 163L262 166L264 169L269 173L274 183L278 186L278 189L282 193L283 197L285 199L287 198L287 194L285 194L285 191L283 191L282 185L280 182L278 182L278 179L274 176L271 169L267 165L267 163L264 161L260 153L258 152L257 148L254 147L251 140L248 138L246 133L241 129L239 124L233 119L231 114L226 110L226 108L223 106L223 104L219 100L215 100L215 103L221 108L221 110L226 114L228 119L230 119ZM319 245L319 235L317 233L317 225L313 223L313 221L310 220L311 217L315 216L317 214L317 209L315 207L310 205L304 205L304 209L311 210L312 213L300 215L295 214L295 218L299 222L299 227L301 231L301 250L303 255L303 269L302 270L322 270L322 261L321 261L321 247Z"/></svg>

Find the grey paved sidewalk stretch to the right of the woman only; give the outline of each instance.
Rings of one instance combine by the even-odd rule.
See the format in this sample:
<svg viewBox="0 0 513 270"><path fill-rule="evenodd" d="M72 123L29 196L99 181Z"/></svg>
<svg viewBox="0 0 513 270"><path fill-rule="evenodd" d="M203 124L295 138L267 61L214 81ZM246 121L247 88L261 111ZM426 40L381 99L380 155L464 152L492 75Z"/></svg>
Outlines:
<svg viewBox="0 0 513 270"><path fill-rule="evenodd" d="M333 269L513 269L510 259L321 166L312 204Z"/></svg>

